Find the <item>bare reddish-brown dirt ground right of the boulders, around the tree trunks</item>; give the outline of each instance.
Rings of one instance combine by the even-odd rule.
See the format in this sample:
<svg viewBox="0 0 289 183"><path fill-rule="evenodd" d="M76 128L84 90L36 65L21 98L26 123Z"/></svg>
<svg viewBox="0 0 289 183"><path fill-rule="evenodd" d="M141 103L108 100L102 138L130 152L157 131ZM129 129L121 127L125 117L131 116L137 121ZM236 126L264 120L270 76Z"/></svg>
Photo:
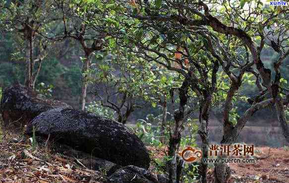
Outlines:
<svg viewBox="0 0 289 183"><path fill-rule="evenodd" d="M162 158L165 149L149 147L154 158ZM230 163L229 183L289 183L289 147L255 147L255 163ZM213 182L213 169L208 170L208 180Z"/></svg>

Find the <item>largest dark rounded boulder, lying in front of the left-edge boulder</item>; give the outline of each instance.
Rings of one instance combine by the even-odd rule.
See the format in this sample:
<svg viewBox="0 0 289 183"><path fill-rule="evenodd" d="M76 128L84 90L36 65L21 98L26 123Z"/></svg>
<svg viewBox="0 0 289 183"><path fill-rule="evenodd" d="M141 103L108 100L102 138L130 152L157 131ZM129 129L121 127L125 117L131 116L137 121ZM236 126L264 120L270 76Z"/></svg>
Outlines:
<svg viewBox="0 0 289 183"><path fill-rule="evenodd" d="M52 109L35 117L27 133L48 136L60 143L121 166L149 168L150 157L143 142L114 120L73 109Z"/></svg>

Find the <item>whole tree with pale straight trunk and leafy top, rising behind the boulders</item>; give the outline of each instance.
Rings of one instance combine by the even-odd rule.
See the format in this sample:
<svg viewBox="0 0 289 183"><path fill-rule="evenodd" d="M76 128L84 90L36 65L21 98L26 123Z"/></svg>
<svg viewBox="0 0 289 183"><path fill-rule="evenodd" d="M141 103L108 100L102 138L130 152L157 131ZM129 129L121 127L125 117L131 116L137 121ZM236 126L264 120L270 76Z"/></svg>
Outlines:
<svg viewBox="0 0 289 183"><path fill-rule="evenodd" d="M81 2L74 0L60 0L58 3L58 11L62 15L63 35L61 39L71 38L78 42L83 49L84 55L80 57L82 62L82 84L79 98L80 110L85 110L87 87L89 78L89 69L92 63L92 56L95 51L104 49L104 35L101 31L101 23L96 25L93 30L85 22L92 16L90 12L86 12L81 6ZM90 6L88 4L88 6ZM98 17L97 14L94 14ZM99 17L99 20L101 17ZM59 37L58 37L59 39Z"/></svg>

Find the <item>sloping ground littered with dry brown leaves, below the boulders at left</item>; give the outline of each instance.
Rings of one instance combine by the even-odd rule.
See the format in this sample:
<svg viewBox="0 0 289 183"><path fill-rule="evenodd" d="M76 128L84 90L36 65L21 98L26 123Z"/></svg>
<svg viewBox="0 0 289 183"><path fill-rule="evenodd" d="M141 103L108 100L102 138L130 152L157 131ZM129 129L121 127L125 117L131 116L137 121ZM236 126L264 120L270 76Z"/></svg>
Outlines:
<svg viewBox="0 0 289 183"><path fill-rule="evenodd" d="M102 183L101 172L93 171L77 157L55 153L21 137L0 139L0 183Z"/></svg>

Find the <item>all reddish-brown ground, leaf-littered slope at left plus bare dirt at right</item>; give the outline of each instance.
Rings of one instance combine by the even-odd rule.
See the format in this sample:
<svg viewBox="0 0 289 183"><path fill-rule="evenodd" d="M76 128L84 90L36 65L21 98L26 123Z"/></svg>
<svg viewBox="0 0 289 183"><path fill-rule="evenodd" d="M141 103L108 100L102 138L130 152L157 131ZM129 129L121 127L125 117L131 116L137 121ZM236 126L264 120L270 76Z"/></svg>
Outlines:
<svg viewBox="0 0 289 183"><path fill-rule="evenodd" d="M0 141L0 183L102 182L103 173L83 167L80 159L19 139L5 137ZM161 159L166 154L165 148L148 149L153 158ZM289 183L289 147L255 147L254 152L254 164L230 163L229 183ZM213 177L212 169L208 175Z"/></svg>

